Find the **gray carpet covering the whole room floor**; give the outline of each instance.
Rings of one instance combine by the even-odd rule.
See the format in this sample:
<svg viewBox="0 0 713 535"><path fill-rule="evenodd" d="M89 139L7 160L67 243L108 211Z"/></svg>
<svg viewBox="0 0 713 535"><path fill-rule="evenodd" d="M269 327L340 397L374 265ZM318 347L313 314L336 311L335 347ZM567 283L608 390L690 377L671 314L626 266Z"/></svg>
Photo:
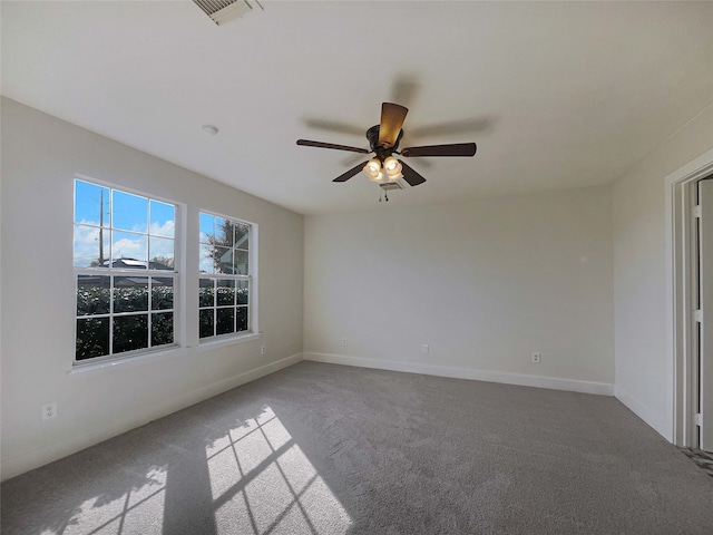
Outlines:
<svg viewBox="0 0 713 535"><path fill-rule="evenodd" d="M4 535L707 534L616 399L302 362L2 484Z"/></svg>

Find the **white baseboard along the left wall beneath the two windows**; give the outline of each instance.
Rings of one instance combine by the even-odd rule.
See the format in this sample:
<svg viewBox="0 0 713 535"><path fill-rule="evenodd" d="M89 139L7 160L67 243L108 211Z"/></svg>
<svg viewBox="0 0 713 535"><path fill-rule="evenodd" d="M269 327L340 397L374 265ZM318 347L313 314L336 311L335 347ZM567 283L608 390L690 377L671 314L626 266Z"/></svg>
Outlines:
<svg viewBox="0 0 713 535"><path fill-rule="evenodd" d="M196 390L183 392L178 397L172 398L169 401L153 405L150 409L147 409L143 414L134 414L129 418L119 421L114 420L110 425L96 426L85 432L72 435L71 437L26 451L10 459L4 459L0 465L2 480L18 476L31 469L39 468L40 466L61 459L77 451L81 451L82 449L111 437L136 429L152 420L163 418L164 416L168 416L177 410L191 407L192 405L240 387L241 385L268 376L270 373L274 373L283 368L287 368L289 366L296 364L301 360L302 353L295 353L291 357L237 373L236 376L223 379Z"/></svg>

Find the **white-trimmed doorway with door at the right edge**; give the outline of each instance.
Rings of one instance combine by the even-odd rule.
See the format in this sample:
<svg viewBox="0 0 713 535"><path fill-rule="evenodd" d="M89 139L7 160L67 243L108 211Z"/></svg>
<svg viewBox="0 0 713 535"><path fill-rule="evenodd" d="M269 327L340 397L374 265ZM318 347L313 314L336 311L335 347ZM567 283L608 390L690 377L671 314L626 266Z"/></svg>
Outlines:
<svg viewBox="0 0 713 535"><path fill-rule="evenodd" d="M713 150L666 178L674 444L713 451Z"/></svg>

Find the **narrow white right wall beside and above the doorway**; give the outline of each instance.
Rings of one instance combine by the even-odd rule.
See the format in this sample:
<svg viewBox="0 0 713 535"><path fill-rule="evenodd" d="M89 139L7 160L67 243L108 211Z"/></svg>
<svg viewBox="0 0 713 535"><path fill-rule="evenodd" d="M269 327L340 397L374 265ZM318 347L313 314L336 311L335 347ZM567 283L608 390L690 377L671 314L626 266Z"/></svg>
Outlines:
<svg viewBox="0 0 713 535"><path fill-rule="evenodd" d="M666 318L670 173L713 148L713 106L614 184L616 397L673 440L674 362Z"/></svg>

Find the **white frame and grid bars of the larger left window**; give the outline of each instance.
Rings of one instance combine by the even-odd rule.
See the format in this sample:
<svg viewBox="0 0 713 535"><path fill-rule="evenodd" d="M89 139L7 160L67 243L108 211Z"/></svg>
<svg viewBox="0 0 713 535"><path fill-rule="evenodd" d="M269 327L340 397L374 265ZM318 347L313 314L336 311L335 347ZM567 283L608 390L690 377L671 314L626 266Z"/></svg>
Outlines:
<svg viewBox="0 0 713 535"><path fill-rule="evenodd" d="M74 351L74 356L72 356L72 369L80 369L80 368L90 368L90 367L96 367L97 364L104 364L104 363L108 363L108 362L116 362L116 361L123 361L123 360L129 360L129 359L135 359L135 358L139 358L139 357L145 357L148 356L150 353L163 353L167 350L175 350L176 348L179 348L183 343L184 343L184 335L182 334L182 329L180 329L180 324L182 324L182 310L185 308L185 304L183 302L183 295L182 295L182 270L179 269L179 266L182 265L182 253L183 253L183 247L182 247L182 242L183 242L183 233L182 233L182 218L184 217L184 212L185 212L185 206L182 205L180 203L177 203L175 201L172 200L167 200L167 198L162 198L155 195L150 195L147 194L145 192L139 192L139 191L135 191L125 186L118 186L116 184L110 184L104 181L99 181L92 177L88 177L88 176L84 176L84 175L75 175L75 181L72 182L72 192L74 192L74 196L72 196L72 204L74 204L74 210L72 210L72 227L76 226L78 223L75 220L76 217L76 201L77 201L77 193L76 193L76 188L77 188L77 182L85 182L91 185L96 185L99 187L107 187L109 188L110 195L113 194L114 191L120 192L120 193L125 193L125 194L130 194L130 195L136 195L139 197L144 197L146 200L148 200L148 202L150 203L150 201L156 201L159 203L164 203L164 204L169 204L174 207L174 269L172 271L169 270L152 270L149 269L150 264L150 259L147 259L147 269L141 269L141 270L136 270L136 269L121 269L121 268L114 268L113 261L116 259L113 259L113 254L111 254L111 242L113 240L109 241L109 254L108 254L108 260L109 260L109 265L108 266L96 266L96 268L74 268L74 284L75 284L75 294L77 292L78 289L78 281L79 281L79 276L80 275L91 275L91 276L110 276L110 285L109 285L109 295L110 295L110 301L109 301L109 312L108 313L100 313L100 314L90 314L90 315L79 315L78 314L78 310L77 310L77 302L75 300L74 303L74 335L75 335L75 340L77 339L77 324L78 324L78 320L79 319L85 319L85 318L108 318L109 319L109 353L108 354L104 354L104 356L98 356L98 357L90 357L87 359L80 359L77 360L77 348L75 344L75 351ZM110 196L110 198L113 198ZM111 220L109 221L109 225L105 225L105 228L108 228L110 231L114 231L114 211L111 210L110 213L110 217ZM79 223L81 224L81 223ZM90 224L82 224L84 226L96 226L96 225L90 225ZM118 230L118 232L126 232L124 230ZM141 235L146 235L147 240L149 234L149 228L147 228L146 233L136 233L136 234L141 234ZM72 244L72 250L74 250L74 244ZM147 278L147 282L148 282L148 308L146 311L139 311L139 312L114 312L114 281L115 278L120 278L120 276L129 276L129 278ZM156 310L152 310L152 282L153 279L158 278L158 279L173 279L173 289L174 289L174 295L173 295L173 308L172 309L156 309ZM154 313L164 313L164 312L172 312L173 313L173 342L172 343L166 343L166 344L160 344L160 346L152 346L150 344L150 337L152 337L152 314ZM135 349L135 350L129 350L129 351L121 351L118 353L114 352L114 318L121 318L121 317L129 317L129 315L146 315L147 317L147 330L148 330L148 347L147 348L140 348L140 349Z"/></svg>

